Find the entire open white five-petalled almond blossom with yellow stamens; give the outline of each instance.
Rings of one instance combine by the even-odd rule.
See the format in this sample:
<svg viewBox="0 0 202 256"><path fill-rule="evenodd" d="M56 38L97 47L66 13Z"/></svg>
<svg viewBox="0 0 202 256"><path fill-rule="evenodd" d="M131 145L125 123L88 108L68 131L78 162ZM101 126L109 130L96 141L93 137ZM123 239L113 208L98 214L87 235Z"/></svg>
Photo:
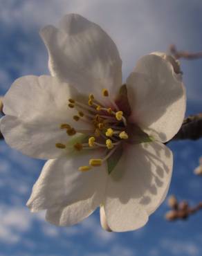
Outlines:
<svg viewBox="0 0 202 256"><path fill-rule="evenodd" d="M49 159L28 200L71 226L101 206L103 228L135 230L165 199L185 90L163 53L146 55L122 85L116 44L80 15L40 32L51 76L17 79L3 100L6 143ZM104 218L104 219L103 219Z"/></svg>

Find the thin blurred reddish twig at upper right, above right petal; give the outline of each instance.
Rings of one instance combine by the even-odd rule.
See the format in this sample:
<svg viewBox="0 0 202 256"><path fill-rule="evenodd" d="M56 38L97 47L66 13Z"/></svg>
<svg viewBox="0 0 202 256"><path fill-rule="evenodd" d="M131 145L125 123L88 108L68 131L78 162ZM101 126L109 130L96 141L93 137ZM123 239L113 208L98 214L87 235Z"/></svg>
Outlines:
<svg viewBox="0 0 202 256"><path fill-rule="evenodd" d="M176 58L178 59L187 59L187 60L196 60L199 58L202 58L202 52L199 53L190 53L187 51L177 51L177 48L174 44L171 44L169 46L169 52Z"/></svg>

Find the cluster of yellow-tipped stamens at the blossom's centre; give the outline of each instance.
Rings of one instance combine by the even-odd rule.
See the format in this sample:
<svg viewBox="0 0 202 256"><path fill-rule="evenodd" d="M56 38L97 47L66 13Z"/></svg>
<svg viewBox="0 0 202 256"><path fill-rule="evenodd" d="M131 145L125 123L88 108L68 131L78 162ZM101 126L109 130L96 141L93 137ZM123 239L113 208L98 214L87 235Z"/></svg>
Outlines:
<svg viewBox="0 0 202 256"><path fill-rule="evenodd" d="M103 89L102 96L109 97L109 91ZM107 161L116 152L122 142L129 139L125 113L110 98L109 102L111 102L110 106L104 106L95 99L93 94L89 95L86 103L68 99L68 107L77 109L77 115L73 116L73 119L77 122L88 122L92 129L75 129L68 124L60 125L60 129L66 129L68 136L73 136L77 133L86 135L82 143L73 145L75 150L102 149L103 151L102 158L89 159L89 165L79 167L80 171L88 171L91 167L102 165L104 161ZM59 149L66 148L63 143L56 143L55 146Z"/></svg>

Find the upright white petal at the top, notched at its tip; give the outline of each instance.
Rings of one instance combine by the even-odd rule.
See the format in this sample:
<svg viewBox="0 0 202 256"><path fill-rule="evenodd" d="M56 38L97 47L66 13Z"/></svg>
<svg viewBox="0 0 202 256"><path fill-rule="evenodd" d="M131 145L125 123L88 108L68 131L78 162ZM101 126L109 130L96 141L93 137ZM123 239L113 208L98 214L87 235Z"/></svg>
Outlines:
<svg viewBox="0 0 202 256"><path fill-rule="evenodd" d="M102 88L117 92L122 83L122 61L116 44L93 22L66 15L59 28L40 32L48 49L50 73L71 82L80 92L101 95Z"/></svg>

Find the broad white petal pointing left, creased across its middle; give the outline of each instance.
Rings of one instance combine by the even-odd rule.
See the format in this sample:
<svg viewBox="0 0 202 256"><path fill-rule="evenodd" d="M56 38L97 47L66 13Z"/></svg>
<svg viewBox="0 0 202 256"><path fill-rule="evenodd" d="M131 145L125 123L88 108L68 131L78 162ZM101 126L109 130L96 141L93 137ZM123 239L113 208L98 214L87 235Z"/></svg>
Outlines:
<svg viewBox="0 0 202 256"><path fill-rule="evenodd" d="M56 158L66 154L55 143L69 138L62 123L78 124L71 118L68 98L75 89L50 76L25 76L17 79L3 99L1 132L6 143L22 153L36 158Z"/></svg>

